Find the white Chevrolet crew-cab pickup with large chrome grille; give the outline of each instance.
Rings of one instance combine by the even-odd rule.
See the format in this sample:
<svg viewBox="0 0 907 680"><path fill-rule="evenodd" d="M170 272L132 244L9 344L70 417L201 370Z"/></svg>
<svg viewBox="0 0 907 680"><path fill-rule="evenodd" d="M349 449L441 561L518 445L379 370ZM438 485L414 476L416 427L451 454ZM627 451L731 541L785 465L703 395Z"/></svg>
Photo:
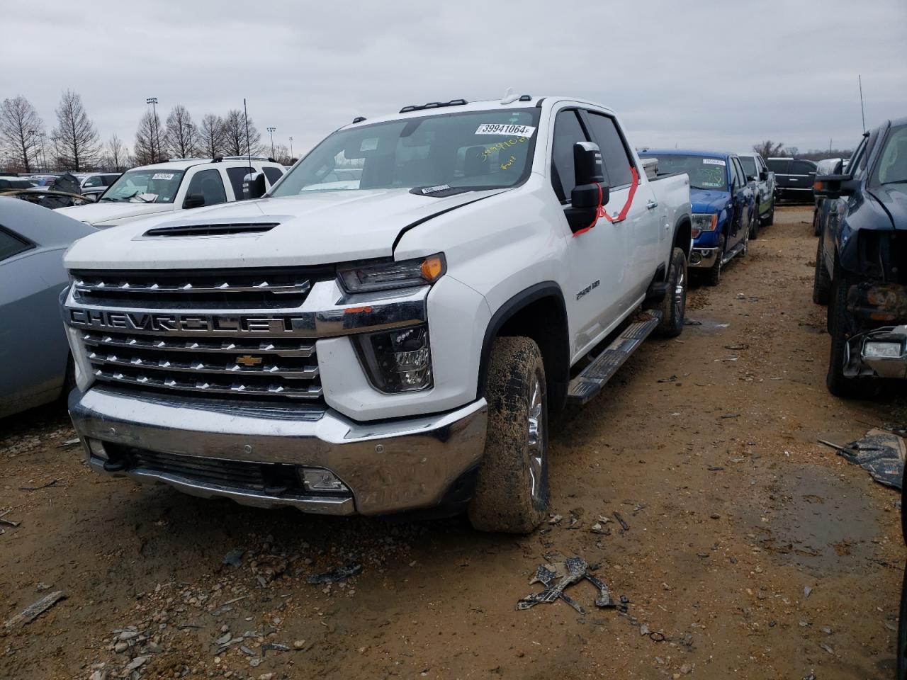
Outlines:
<svg viewBox="0 0 907 680"><path fill-rule="evenodd" d="M688 178L649 180L632 149L590 102L407 106L334 132L264 198L83 238L61 299L90 465L531 531L549 413L683 328Z"/></svg>

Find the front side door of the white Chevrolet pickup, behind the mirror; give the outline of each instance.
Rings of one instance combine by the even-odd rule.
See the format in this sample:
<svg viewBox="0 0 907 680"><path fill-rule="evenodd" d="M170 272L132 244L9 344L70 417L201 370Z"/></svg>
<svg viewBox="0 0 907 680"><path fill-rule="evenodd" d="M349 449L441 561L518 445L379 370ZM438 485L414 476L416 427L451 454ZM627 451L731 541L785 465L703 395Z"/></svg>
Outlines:
<svg viewBox="0 0 907 680"><path fill-rule="evenodd" d="M575 108L558 111L551 142L551 186L564 209L570 208L576 185L573 145L590 141ZM614 200L610 201L611 203ZM571 356L588 351L620 313L627 282L627 257L620 225L599 219L593 228L574 235L566 217L562 229L568 238L567 262L570 289L564 291L574 323Z"/></svg>

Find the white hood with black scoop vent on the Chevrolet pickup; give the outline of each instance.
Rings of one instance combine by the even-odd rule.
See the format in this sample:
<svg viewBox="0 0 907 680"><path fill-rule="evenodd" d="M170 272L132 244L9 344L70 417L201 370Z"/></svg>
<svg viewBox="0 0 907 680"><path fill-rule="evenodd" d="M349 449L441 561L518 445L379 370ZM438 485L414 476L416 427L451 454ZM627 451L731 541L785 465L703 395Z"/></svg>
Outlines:
<svg viewBox="0 0 907 680"><path fill-rule="evenodd" d="M468 191L442 199L417 196L408 189L326 191L180 210L83 238L66 254L65 266L298 267L390 257L405 227L504 190ZM151 228L244 222L277 226L216 236L145 236Z"/></svg>

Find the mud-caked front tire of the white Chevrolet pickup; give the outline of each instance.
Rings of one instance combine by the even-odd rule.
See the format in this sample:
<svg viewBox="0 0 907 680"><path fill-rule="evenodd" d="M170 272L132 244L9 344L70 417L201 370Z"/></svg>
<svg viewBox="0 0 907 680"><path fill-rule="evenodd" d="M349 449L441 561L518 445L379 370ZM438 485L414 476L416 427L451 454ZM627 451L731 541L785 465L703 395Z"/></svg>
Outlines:
<svg viewBox="0 0 907 680"><path fill-rule="evenodd" d="M495 339L485 399L488 432L469 520L480 531L530 533L547 516L549 500L548 393L534 340Z"/></svg>

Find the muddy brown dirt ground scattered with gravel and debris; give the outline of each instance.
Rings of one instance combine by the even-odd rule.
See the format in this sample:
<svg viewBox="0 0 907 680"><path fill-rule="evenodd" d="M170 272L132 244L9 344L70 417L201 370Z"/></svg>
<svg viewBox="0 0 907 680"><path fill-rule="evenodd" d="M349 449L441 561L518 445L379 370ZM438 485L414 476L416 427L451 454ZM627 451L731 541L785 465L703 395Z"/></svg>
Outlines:
<svg viewBox="0 0 907 680"><path fill-rule="evenodd" d="M0 627L0 677L892 676L899 496L816 439L907 408L826 392L810 219L779 209L719 287L691 292L700 325L644 346L556 423L561 520L525 538L137 487L60 446L60 406L0 421L0 512L21 522L0 525L0 619L66 595ZM608 533L590 530L600 516ZM597 609L588 583L569 590L585 616L514 609L541 562L572 555L626 613ZM351 560L364 568L346 583L306 583Z"/></svg>

